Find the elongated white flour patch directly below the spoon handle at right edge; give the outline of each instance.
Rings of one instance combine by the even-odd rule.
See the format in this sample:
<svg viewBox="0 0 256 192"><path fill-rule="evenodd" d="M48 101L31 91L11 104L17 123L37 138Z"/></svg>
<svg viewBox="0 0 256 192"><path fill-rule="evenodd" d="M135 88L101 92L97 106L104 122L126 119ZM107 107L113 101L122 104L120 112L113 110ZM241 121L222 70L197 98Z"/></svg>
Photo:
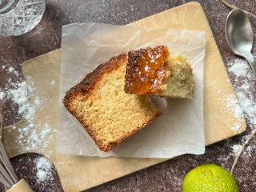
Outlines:
<svg viewBox="0 0 256 192"><path fill-rule="evenodd" d="M245 114L247 122L251 126L256 125L256 102L255 102L255 76L250 70L249 64L243 59L234 59L233 62L228 64L230 66L228 71L234 75L234 89L238 96L238 100L242 110ZM227 98L229 105L234 105L232 99ZM235 115L239 116L240 112L238 109L235 110Z"/></svg>

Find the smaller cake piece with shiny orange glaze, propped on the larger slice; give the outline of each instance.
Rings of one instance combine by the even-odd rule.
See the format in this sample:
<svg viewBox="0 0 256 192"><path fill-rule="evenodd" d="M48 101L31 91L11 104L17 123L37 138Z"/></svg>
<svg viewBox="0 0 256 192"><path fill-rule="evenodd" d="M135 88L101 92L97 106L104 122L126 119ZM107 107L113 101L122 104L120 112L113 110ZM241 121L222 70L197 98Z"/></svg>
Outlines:
<svg viewBox="0 0 256 192"><path fill-rule="evenodd" d="M193 98L194 75L182 55L170 56L166 46L133 50L126 66L127 94Z"/></svg>

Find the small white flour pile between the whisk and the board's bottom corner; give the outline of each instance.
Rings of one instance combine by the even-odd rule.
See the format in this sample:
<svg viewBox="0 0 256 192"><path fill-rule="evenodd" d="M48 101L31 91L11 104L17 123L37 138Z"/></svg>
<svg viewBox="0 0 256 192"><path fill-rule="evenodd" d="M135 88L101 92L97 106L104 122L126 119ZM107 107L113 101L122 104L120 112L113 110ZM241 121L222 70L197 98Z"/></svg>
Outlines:
<svg viewBox="0 0 256 192"><path fill-rule="evenodd" d="M41 157L35 160L36 175L38 182L53 180L52 163L48 158Z"/></svg>

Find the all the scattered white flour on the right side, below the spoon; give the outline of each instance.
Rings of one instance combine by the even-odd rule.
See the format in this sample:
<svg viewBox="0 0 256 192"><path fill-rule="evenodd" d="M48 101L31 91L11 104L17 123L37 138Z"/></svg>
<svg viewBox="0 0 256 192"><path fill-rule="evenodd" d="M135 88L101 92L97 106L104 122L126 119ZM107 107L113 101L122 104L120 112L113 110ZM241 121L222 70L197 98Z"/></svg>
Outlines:
<svg viewBox="0 0 256 192"><path fill-rule="evenodd" d="M231 74L231 78L234 83L234 90L237 94L239 104L242 108L243 114L247 120L247 123L250 127L254 129L256 126L256 86L255 86L255 75L250 70L250 65L244 59L236 58L233 61L227 64L228 71ZM227 106L234 107L234 114L238 117L241 113L235 105L234 98L230 98L227 96L226 98ZM240 130L239 125L234 125L232 130L238 131ZM242 144L246 141L247 136L243 136L240 144L234 144L231 146L233 154L231 156L235 156L238 153L238 150L242 146ZM256 146L246 146L243 150L243 155L246 157L250 157L252 151L256 149Z"/></svg>

